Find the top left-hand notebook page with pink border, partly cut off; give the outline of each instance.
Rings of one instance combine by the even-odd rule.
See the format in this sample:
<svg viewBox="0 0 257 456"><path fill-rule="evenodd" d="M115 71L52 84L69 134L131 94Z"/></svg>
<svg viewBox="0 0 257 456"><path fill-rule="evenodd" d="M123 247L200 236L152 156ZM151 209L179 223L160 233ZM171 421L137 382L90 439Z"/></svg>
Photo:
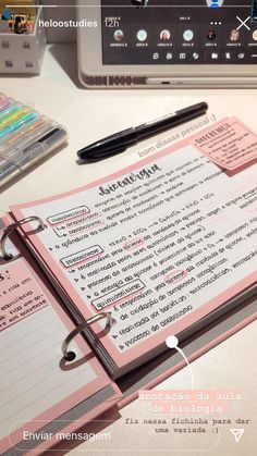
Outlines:
<svg viewBox="0 0 257 456"><path fill-rule="evenodd" d="M33 420L39 429L110 383L82 337L71 343L77 362L63 363L61 345L72 328L23 258L1 262L0 449L7 435L29 431Z"/></svg>

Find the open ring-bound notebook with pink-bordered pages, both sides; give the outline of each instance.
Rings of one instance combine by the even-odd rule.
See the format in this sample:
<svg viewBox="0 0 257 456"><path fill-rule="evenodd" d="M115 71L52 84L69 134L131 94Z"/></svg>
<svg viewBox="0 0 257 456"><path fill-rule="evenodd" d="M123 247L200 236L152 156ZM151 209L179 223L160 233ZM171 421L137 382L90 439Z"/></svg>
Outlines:
<svg viewBox="0 0 257 456"><path fill-rule="evenodd" d="M4 456L182 368L168 335L193 360L255 320L257 164L230 175L195 144L1 219Z"/></svg>

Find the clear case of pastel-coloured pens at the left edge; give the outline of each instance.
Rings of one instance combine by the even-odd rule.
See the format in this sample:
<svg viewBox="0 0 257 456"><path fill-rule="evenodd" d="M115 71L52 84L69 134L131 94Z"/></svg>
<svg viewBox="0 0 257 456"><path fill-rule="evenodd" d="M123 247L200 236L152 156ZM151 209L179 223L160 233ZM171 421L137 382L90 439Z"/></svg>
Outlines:
<svg viewBox="0 0 257 456"><path fill-rule="evenodd" d="M0 187L65 144L66 128L0 95Z"/></svg>

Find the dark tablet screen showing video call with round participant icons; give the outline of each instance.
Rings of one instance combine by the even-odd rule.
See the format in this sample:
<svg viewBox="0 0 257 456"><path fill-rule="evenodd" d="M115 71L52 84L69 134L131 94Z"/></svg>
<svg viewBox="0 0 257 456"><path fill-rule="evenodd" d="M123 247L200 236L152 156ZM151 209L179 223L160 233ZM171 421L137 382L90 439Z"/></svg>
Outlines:
<svg viewBox="0 0 257 456"><path fill-rule="evenodd" d="M257 63L257 0L102 0L102 64Z"/></svg>

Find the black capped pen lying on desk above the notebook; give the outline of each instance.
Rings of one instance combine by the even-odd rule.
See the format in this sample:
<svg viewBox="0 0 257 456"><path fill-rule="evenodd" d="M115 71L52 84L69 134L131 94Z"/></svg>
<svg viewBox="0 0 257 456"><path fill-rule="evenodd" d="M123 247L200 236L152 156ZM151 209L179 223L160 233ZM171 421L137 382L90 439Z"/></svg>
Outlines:
<svg viewBox="0 0 257 456"><path fill-rule="evenodd" d="M87 147L78 150L77 156L83 160L99 160L123 152L127 147L147 139L150 136L173 128L174 126L204 114L208 109L206 102L180 109L172 114L164 115L139 126L123 130L114 135L107 136Z"/></svg>

